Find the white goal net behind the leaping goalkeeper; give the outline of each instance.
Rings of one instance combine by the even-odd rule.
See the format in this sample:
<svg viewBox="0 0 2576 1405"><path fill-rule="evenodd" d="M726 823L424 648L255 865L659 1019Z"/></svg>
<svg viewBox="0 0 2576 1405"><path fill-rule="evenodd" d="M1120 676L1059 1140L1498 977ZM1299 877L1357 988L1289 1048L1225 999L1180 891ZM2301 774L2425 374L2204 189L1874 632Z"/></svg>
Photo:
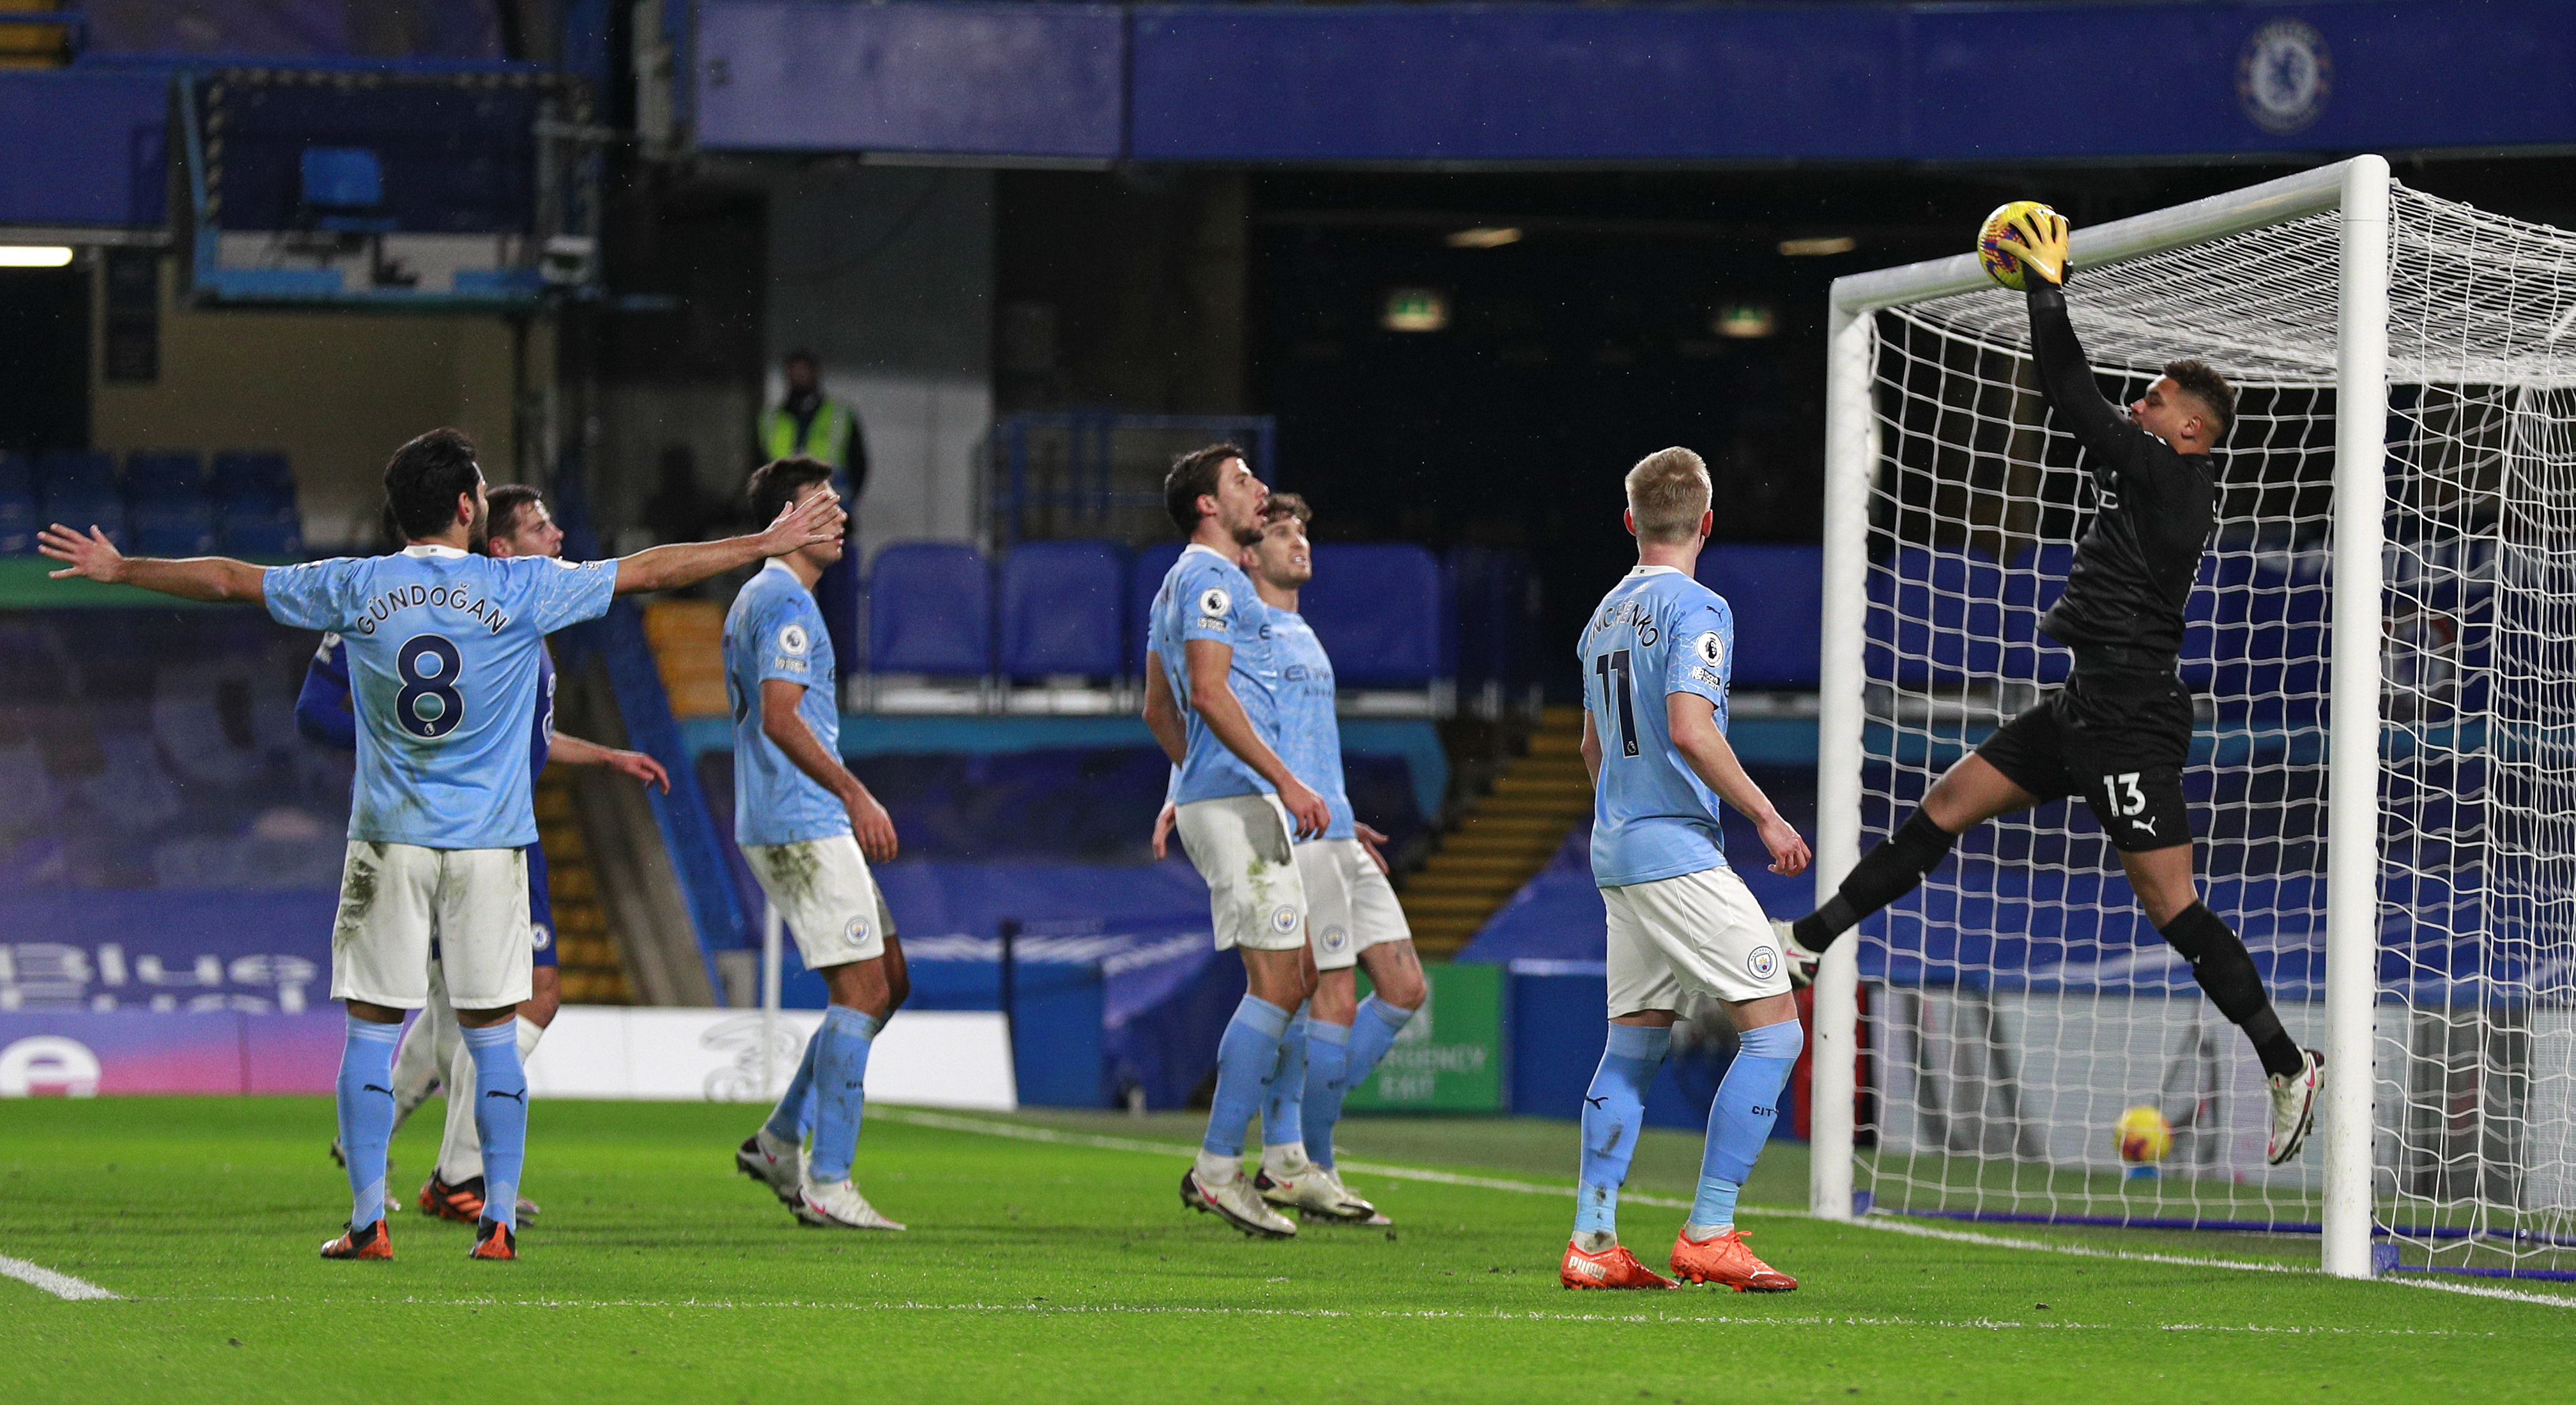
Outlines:
<svg viewBox="0 0 2576 1405"><path fill-rule="evenodd" d="M2375 1268L2576 1271L2576 235L2388 186L2385 498L2378 531L2354 531L2336 505L2367 482L2352 474L2370 438L2349 454L2342 425L2339 485L2339 402L2380 407L2339 389L2354 343L2336 180L2105 227L2107 258L2079 235L2069 304L2117 402L2182 356L2239 387L2182 652L2197 866L2287 1031L2331 1049L2329 851L2370 864L2354 871L2375 874L2375 910L2334 946L2370 985L2342 1005L2344 1049L2370 1067L2329 1075L2367 1080L2372 1132L2324 1127L2300 1160L2264 1163L2244 1034L2069 799L1971 830L1857 933L1857 1083L1819 1080L1819 1127L1842 1116L1850 1152L1824 1134L1819 1158L1847 1155L1868 1209L2318 1232L2342 1155L2354 1206L2367 1186ZM1847 284L1852 477L1826 531L1865 603L1826 629L1829 657L1857 663L1857 706L1829 701L1824 828L1857 812L1857 833L1839 853L1824 835L1826 882L2066 678L2038 619L2097 492L2038 392L2020 294L1958 260ZM2378 577L2375 660L2334 657L2349 572ZM2367 727L2336 753L2336 678L2370 673L2375 825L2370 786L2334 799L2336 771L2372 758ZM2136 1106L2172 1127L2159 1160L2120 1155ZM2331 1111L2360 1106L2344 1090ZM1819 1170L1819 1209L1834 1176Z"/></svg>

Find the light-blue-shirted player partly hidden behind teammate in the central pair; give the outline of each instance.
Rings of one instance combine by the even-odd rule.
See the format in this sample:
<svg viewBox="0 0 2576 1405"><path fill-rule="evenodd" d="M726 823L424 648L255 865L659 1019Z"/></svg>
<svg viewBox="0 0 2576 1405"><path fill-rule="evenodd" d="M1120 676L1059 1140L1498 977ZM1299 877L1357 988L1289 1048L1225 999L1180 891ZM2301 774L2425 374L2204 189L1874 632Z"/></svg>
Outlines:
<svg viewBox="0 0 2576 1405"><path fill-rule="evenodd" d="M1422 956L1404 925L1404 907L1386 882L1378 846L1386 835L1358 822L1342 786L1342 724L1334 717L1332 657L1298 616L1298 588L1314 580L1306 523L1314 510L1296 492L1273 492L1262 508L1262 539L1236 559L1267 606L1270 637L1280 652L1280 758L1324 797L1332 825L1296 843L1296 871L1306 887L1306 944L1316 985L1306 1016L1280 1042L1280 1067L1262 1103L1262 1170L1252 1186L1280 1209L1352 1225L1386 1225L1373 1204L1350 1194L1332 1165L1332 1129L1342 1098L1378 1067L1404 1023L1422 1008ZM1172 807L1154 822L1154 858L1162 858ZM1355 967L1376 987L1360 1000Z"/></svg>

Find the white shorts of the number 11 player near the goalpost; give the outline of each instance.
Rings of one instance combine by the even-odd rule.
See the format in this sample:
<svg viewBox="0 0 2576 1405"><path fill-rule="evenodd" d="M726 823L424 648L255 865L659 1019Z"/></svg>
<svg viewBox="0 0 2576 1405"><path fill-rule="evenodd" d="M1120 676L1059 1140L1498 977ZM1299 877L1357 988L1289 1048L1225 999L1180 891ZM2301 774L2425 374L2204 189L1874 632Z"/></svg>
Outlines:
<svg viewBox="0 0 2576 1405"><path fill-rule="evenodd" d="M1770 918L1734 869L1605 887L1610 1018L1680 1011L1690 993L1718 1000L1788 995L1788 962Z"/></svg>

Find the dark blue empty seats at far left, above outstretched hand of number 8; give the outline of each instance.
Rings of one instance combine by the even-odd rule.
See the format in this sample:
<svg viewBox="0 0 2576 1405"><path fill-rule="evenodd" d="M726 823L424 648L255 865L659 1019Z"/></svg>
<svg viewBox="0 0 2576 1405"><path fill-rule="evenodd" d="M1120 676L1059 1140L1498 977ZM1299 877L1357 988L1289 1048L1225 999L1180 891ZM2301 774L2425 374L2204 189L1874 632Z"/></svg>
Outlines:
<svg viewBox="0 0 2576 1405"><path fill-rule="evenodd" d="M304 549L286 454L95 449L0 454L0 554L36 549L44 523L98 526L118 547L155 557L232 552L291 557Z"/></svg>

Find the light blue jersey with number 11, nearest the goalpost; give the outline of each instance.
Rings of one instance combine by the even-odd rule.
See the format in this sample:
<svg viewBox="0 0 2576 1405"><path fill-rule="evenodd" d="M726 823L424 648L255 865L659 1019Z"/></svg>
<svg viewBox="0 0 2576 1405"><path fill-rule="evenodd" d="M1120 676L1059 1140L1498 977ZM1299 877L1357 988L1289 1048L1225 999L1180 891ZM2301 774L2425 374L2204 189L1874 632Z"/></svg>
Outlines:
<svg viewBox="0 0 2576 1405"><path fill-rule="evenodd" d="M1726 732L1734 611L1672 567L1636 567L1592 611L1579 657L1584 709L1602 745L1592 786L1592 882L1628 887L1726 864L1718 797L1672 750L1664 699L1713 701L1718 732Z"/></svg>

